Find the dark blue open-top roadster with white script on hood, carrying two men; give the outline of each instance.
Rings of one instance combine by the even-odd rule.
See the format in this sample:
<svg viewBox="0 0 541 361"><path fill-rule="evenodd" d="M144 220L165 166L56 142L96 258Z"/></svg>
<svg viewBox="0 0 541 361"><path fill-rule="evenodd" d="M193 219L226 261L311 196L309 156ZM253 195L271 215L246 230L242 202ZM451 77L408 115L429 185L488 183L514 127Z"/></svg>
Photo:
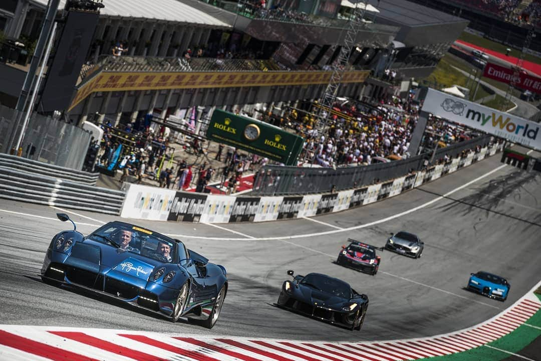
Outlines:
<svg viewBox="0 0 541 361"><path fill-rule="evenodd" d="M109 222L86 237L76 231L55 235L45 254L42 280L73 285L160 313L214 326L227 294L223 266L208 262L184 244L149 229Z"/></svg>

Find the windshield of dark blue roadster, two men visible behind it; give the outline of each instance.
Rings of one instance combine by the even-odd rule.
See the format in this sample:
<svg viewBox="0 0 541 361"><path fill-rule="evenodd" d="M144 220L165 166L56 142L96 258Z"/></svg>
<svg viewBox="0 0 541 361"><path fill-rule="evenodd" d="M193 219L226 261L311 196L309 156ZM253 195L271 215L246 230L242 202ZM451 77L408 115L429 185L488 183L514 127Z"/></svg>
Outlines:
<svg viewBox="0 0 541 361"><path fill-rule="evenodd" d="M179 252L186 254L181 243L129 224L107 224L90 234L88 238L115 246L121 252L141 254L165 263L176 262L178 259L176 255Z"/></svg>

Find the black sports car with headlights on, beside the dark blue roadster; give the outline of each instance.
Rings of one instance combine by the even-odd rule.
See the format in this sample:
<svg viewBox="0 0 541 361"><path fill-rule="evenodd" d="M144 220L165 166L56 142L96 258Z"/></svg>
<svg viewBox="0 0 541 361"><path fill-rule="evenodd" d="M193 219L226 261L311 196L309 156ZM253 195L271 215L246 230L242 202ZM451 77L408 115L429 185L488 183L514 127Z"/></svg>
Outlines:
<svg viewBox="0 0 541 361"><path fill-rule="evenodd" d="M293 273L287 271L292 277ZM277 306L353 331L364 323L368 297L337 278L308 273L283 283Z"/></svg>

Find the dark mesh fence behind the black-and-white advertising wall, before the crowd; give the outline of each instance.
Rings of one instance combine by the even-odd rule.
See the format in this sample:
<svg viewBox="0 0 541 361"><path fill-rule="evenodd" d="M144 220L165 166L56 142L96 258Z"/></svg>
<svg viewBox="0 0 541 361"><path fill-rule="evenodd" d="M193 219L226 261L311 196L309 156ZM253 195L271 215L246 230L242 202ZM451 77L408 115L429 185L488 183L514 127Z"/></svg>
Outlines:
<svg viewBox="0 0 541 361"><path fill-rule="evenodd" d="M463 150L485 146L490 142L490 136L453 144L436 151L434 159L445 154L454 157ZM411 170L423 168L424 161L432 154L421 154L405 160L390 163L379 163L364 167L346 168L299 168L283 166L265 166L260 170L254 184L255 195L293 195L313 194L342 191L349 188L359 188L377 182L385 182L408 174Z"/></svg>

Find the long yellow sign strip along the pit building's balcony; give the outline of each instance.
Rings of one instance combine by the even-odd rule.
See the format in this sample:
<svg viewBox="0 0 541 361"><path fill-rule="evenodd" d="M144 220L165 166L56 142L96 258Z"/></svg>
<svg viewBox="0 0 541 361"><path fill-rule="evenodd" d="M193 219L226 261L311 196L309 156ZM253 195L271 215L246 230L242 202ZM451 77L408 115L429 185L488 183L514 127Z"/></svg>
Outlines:
<svg viewBox="0 0 541 361"><path fill-rule="evenodd" d="M280 85L326 84L331 71L232 71L224 72L104 72L84 83L68 110L73 109L90 93L96 91L129 91L194 88L269 87ZM342 83L362 83L369 71L347 71Z"/></svg>

